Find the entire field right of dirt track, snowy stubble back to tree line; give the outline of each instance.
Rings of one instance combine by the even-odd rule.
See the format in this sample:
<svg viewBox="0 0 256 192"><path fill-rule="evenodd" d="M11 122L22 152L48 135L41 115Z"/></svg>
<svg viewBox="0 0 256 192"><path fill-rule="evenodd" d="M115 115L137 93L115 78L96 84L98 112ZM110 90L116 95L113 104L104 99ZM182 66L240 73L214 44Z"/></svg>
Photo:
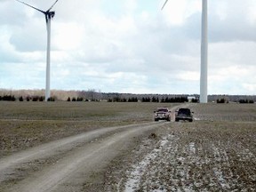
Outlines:
<svg viewBox="0 0 256 192"><path fill-rule="evenodd" d="M124 191L255 191L255 105L193 104L196 121L159 126L107 179ZM117 161L117 160L116 160ZM117 161L118 162L118 161ZM123 175L123 178L120 177ZM108 176L107 176L108 177ZM114 183L114 184L113 184Z"/></svg>

